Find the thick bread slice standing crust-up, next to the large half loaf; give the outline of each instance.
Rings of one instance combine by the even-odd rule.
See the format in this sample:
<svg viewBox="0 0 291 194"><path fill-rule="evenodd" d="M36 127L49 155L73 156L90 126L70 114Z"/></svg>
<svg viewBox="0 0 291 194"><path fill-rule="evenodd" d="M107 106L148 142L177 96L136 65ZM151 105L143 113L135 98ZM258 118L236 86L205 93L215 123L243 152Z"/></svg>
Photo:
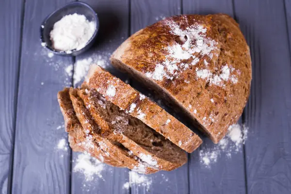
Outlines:
<svg viewBox="0 0 291 194"><path fill-rule="evenodd" d="M98 65L91 65L82 86L96 89L108 101L138 118L187 152L193 152L202 143L191 129Z"/></svg>

